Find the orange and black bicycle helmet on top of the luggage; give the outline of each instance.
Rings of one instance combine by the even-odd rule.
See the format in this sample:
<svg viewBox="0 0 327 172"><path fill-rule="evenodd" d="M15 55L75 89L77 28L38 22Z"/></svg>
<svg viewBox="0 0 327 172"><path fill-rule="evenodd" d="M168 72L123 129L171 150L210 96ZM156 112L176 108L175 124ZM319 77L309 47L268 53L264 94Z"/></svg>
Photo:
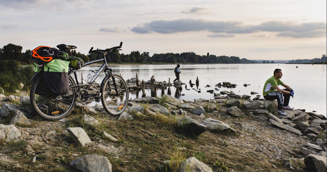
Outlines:
<svg viewBox="0 0 327 172"><path fill-rule="evenodd" d="M36 64L44 64L57 58L59 50L48 46L38 46L31 51L31 58Z"/></svg>

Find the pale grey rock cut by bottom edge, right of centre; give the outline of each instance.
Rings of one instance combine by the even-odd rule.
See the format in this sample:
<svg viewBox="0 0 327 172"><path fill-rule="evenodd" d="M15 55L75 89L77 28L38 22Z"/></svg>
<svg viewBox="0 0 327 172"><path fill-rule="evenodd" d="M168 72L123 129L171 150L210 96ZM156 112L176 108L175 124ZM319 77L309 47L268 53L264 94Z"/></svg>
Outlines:
<svg viewBox="0 0 327 172"><path fill-rule="evenodd" d="M191 157L186 159L185 161L183 161L179 168L178 168L178 172L212 172L212 169L200 162L198 159L196 159L195 157Z"/></svg>

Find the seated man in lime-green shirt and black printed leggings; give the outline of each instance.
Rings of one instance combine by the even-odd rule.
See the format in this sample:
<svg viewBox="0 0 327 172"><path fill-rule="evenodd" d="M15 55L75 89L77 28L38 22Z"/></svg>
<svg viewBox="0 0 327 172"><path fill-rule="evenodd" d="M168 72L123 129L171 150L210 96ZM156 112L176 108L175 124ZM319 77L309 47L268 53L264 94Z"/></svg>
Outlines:
<svg viewBox="0 0 327 172"><path fill-rule="evenodd" d="M293 110L294 108L291 108L288 106L290 96L294 96L294 91L291 89L288 85L284 84L280 78L282 78L283 73L282 69L275 69L274 76L267 79L264 89L263 89L263 95L266 100L274 100L277 99L278 103L278 110L277 113L280 115L287 115L283 111L284 110ZM282 85L286 89L280 89L278 86Z"/></svg>

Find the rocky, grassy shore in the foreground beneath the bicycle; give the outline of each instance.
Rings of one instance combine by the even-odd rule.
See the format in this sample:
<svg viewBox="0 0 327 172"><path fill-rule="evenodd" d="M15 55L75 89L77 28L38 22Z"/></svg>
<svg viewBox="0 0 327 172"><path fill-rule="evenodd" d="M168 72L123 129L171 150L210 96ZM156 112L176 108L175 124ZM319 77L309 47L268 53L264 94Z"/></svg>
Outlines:
<svg viewBox="0 0 327 172"><path fill-rule="evenodd" d="M27 93L0 94L0 170L326 171L326 117L220 94L135 98L119 117L77 103L60 121L34 114Z"/></svg>

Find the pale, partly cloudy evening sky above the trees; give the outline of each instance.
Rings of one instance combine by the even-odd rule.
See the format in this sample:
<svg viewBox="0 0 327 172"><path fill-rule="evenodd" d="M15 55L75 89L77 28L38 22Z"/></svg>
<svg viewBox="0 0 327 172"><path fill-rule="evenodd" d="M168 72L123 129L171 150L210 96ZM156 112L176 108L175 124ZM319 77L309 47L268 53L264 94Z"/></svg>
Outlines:
<svg viewBox="0 0 327 172"><path fill-rule="evenodd" d="M64 43L87 54L195 52L249 60L321 58L326 0L0 0L0 47Z"/></svg>

